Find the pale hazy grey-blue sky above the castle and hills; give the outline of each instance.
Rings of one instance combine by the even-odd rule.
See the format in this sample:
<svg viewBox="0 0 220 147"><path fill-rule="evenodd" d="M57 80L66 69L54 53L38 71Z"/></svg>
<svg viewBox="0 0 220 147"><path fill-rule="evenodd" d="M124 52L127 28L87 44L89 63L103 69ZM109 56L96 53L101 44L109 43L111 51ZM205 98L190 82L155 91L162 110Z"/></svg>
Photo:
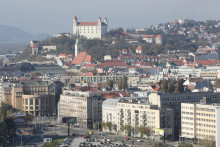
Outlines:
<svg viewBox="0 0 220 147"><path fill-rule="evenodd" d="M72 32L72 19L143 28L175 19L220 20L220 0L0 0L0 24L30 33Z"/></svg>

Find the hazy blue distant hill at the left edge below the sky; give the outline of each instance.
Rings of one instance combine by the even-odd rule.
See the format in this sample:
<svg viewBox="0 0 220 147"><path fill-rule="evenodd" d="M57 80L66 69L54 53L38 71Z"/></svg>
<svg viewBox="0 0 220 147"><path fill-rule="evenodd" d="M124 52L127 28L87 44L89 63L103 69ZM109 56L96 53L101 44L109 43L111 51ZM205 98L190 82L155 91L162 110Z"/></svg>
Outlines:
<svg viewBox="0 0 220 147"><path fill-rule="evenodd" d="M49 37L49 34L31 34L19 28L0 25L0 44L1 43L29 43L31 40L42 40Z"/></svg>

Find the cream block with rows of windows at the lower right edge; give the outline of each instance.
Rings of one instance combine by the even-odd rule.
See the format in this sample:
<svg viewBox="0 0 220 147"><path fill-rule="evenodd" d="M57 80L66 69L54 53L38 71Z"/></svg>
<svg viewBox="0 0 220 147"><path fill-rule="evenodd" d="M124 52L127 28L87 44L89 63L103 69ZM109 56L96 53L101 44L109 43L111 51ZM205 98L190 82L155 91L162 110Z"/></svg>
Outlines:
<svg viewBox="0 0 220 147"><path fill-rule="evenodd" d="M204 103L205 101L205 103ZM217 108L220 105L208 104L206 99L202 103L182 103L181 104L181 140L192 141L217 139L217 120L220 119Z"/></svg>

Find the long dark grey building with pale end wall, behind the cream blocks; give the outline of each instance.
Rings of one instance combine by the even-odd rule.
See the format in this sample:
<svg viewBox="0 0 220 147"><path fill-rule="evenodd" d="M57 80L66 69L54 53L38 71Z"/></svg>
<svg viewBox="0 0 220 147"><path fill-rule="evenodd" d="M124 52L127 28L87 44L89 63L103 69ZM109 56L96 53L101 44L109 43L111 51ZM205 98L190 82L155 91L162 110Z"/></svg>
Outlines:
<svg viewBox="0 0 220 147"><path fill-rule="evenodd" d="M220 102L220 93L151 93L149 103L157 105L161 110L170 108L174 110L174 135L177 138L181 129L181 103L199 102L203 97L210 98L211 102Z"/></svg>

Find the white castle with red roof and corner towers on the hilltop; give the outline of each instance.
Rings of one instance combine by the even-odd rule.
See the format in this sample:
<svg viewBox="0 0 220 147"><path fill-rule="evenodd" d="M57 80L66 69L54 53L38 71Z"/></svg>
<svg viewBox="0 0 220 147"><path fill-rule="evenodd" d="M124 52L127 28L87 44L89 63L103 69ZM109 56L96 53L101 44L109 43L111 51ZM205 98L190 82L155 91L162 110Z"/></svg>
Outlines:
<svg viewBox="0 0 220 147"><path fill-rule="evenodd" d="M76 35L77 32L79 32L81 36L84 36L87 39L101 39L102 35L107 33L107 29L107 18L105 18L103 22L100 17L97 22L78 22L76 16L73 18L73 35Z"/></svg>

